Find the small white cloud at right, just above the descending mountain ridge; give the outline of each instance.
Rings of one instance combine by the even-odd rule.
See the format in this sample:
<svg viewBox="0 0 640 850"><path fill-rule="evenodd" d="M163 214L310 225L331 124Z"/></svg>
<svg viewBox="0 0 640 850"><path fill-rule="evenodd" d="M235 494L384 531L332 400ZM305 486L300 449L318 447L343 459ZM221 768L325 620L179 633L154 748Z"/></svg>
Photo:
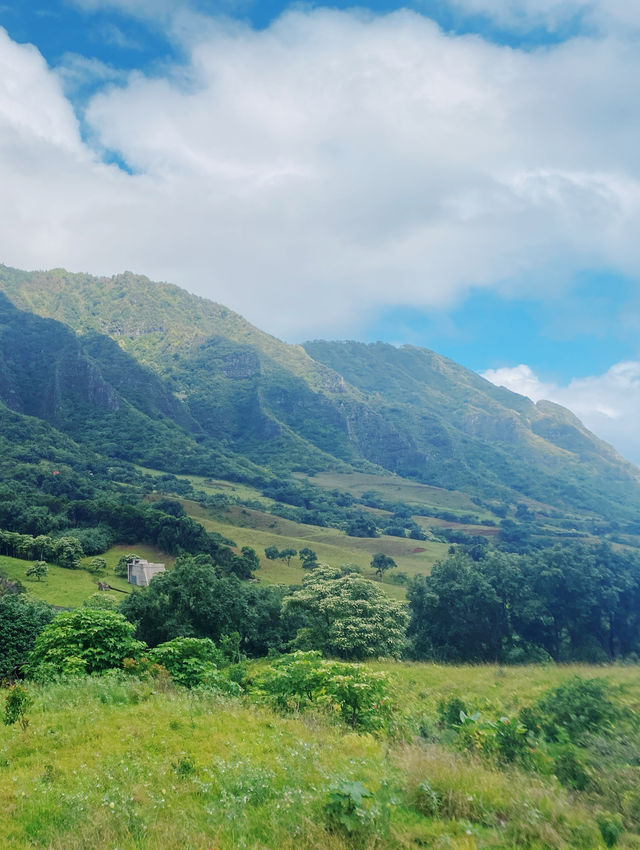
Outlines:
<svg viewBox="0 0 640 850"><path fill-rule="evenodd" d="M533 401L547 399L568 407L589 430L615 446L626 458L640 464L639 361L616 363L603 375L575 378L566 386L540 380L524 364L489 369L483 377Z"/></svg>

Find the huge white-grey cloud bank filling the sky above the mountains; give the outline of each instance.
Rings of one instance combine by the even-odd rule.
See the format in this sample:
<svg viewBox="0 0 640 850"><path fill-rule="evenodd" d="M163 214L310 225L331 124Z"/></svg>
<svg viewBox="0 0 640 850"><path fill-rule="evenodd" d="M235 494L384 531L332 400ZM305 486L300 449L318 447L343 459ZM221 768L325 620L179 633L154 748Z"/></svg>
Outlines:
<svg viewBox="0 0 640 850"><path fill-rule="evenodd" d="M640 272L632 43L525 52L327 9L181 32L186 62L105 83L83 135L60 76L0 33L4 262L142 271L288 339Z"/></svg>

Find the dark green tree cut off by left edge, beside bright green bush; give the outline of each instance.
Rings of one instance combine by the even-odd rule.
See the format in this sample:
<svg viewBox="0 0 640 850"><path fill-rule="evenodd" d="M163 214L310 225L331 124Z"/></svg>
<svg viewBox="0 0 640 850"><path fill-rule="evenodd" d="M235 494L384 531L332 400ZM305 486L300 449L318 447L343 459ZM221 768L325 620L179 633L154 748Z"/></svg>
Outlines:
<svg viewBox="0 0 640 850"><path fill-rule="evenodd" d="M50 605L20 593L0 596L0 680L19 673L36 637L54 613Z"/></svg>

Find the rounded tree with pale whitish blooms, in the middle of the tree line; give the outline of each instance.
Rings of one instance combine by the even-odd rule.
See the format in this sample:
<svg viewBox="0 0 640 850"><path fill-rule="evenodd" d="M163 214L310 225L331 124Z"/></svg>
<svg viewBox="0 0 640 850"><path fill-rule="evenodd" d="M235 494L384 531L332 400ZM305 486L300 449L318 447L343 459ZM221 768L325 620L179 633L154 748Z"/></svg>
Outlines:
<svg viewBox="0 0 640 850"><path fill-rule="evenodd" d="M294 645L348 659L401 655L408 615L378 585L356 573L318 567L283 602L285 618L296 617Z"/></svg>

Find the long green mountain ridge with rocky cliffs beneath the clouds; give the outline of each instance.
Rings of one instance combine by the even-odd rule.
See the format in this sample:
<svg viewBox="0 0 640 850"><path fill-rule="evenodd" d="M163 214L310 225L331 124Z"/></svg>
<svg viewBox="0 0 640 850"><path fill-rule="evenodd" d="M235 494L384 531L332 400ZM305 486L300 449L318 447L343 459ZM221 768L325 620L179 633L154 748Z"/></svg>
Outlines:
<svg viewBox="0 0 640 850"><path fill-rule="evenodd" d="M246 480L386 471L495 505L637 516L640 470L573 414L427 349L286 345L130 273L0 266L0 293L0 400L95 451Z"/></svg>

